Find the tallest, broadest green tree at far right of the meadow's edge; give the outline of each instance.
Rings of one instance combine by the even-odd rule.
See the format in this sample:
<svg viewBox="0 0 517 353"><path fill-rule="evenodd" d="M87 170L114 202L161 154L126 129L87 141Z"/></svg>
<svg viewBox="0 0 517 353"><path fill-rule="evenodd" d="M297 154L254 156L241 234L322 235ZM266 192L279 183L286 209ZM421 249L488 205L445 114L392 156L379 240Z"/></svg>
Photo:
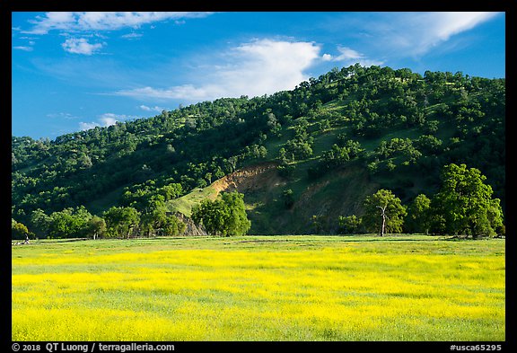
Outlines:
<svg viewBox="0 0 517 353"><path fill-rule="evenodd" d="M443 220L445 232L477 238L493 236L503 226L500 200L492 199L492 187L478 169L451 163L443 167L442 180L431 207Z"/></svg>

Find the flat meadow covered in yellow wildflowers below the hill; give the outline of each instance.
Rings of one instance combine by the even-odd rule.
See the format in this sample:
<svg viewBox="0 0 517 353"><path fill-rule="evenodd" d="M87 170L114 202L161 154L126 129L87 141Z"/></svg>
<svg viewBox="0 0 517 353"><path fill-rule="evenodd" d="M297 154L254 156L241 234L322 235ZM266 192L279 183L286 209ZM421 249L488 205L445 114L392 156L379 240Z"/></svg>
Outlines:
<svg viewBox="0 0 517 353"><path fill-rule="evenodd" d="M504 340L504 240L13 246L12 340Z"/></svg>

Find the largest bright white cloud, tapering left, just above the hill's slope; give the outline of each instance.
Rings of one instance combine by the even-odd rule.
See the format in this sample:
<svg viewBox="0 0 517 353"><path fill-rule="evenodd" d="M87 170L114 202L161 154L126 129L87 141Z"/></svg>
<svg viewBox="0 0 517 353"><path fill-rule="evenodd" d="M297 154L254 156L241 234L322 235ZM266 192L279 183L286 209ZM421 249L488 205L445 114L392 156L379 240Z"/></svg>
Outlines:
<svg viewBox="0 0 517 353"><path fill-rule="evenodd" d="M220 97L250 97L294 89L309 77L304 73L320 58L320 47L311 42L253 40L226 50L223 62L200 65L192 74L202 84L182 84L167 88L151 86L118 91L117 95L136 99L186 101Z"/></svg>

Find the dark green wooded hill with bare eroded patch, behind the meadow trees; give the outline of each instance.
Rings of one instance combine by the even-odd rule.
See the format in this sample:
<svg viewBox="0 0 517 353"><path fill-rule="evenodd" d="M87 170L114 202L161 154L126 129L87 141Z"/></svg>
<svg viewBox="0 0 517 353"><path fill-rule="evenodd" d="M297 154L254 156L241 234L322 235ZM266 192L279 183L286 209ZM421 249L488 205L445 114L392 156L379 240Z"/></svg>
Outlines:
<svg viewBox="0 0 517 353"><path fill-rule="evenodd" d="M448 163L486 175L505 201L505 81L462 73L335 68L293 91L204 101L57 137L12 137L13 218L83 205L145 207L158 195L190 215L244 193L250 234L337 232L389 189L432 196Z"/></svg>

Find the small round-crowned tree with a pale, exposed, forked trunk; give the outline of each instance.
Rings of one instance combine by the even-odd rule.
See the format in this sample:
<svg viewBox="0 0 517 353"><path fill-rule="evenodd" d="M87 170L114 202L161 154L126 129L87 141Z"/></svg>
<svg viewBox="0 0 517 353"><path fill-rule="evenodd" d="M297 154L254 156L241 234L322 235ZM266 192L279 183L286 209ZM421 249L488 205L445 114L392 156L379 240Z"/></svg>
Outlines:
<svg viewBox="0 0 517 353"><path fill-rule="evenodd" d="M390 190L378 190L364 200L363 225L367 232L401 233L406 207Z"/></svg>

